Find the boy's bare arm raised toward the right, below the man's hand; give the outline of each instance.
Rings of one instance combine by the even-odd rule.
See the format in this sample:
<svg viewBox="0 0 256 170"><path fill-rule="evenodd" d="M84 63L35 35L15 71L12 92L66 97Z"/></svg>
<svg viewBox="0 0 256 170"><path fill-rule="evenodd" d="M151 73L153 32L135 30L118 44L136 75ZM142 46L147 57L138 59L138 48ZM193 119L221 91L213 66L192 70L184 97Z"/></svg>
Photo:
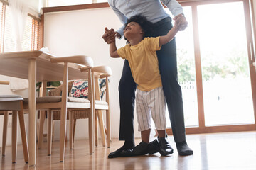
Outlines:
<svg viewBox="0 0 256 170"><path fill-rule="evenodd" d="M161 45L165 45L167 42L170 42L176 35L176 33L178 33L178 30L181 27L181 19L177 18L174 24L174 27L171 28L171 30L169 30L169 32L164 35L164 36L160 36L159 38L159 46Z"/></svg>

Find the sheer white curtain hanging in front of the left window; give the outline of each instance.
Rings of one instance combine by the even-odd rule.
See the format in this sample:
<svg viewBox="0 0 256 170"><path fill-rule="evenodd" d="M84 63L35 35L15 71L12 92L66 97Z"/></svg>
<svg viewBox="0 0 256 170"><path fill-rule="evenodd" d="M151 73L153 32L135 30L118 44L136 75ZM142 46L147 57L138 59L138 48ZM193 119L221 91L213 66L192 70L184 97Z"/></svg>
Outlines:
<svg viewBox="0 0 256 170"><path fill-rule="evenodd" d="M22 51L22 37L26 26L28 16L27 0L9 0L11 8L12 28L15 38L16 51ZM23 79L11 78L10 88L12 91L28 89L28 81Z"/></svg>

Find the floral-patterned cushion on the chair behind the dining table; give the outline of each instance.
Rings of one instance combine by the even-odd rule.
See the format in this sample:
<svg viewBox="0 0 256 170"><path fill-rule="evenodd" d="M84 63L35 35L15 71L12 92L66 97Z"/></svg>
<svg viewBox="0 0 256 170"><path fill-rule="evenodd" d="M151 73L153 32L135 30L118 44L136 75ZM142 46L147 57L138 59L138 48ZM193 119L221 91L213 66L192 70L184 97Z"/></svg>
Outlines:
<svg viewBox="0 0 256 170"><path fill-rule="evenodd" d="M99 79L100 98L102 99L106 89L106 79ZM71 97L88 98L88 81L75 80L71 88Z"/></svg>

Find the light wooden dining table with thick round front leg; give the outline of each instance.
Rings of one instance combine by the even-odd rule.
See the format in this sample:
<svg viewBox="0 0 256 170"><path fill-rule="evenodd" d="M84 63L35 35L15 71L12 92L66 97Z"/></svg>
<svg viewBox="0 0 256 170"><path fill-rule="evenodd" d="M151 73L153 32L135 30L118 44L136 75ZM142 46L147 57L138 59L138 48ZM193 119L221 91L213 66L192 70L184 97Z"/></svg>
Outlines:
<svg viewBox="0 0 256 170"><path fill-rule="evenodd" d="M64 64L50 62L56 57L40 50L0 54L0 74L28 79L28 153L29 166L36 166L36 83L61 81ZM79 64L68 64L68 80L85 79Z"/></svg>

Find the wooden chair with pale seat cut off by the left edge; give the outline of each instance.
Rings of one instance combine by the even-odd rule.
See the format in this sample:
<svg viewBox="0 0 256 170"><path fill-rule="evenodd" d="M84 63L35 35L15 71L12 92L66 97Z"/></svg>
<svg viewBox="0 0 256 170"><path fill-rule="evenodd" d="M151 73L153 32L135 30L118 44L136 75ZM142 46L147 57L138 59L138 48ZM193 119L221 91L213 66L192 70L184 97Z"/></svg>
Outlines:
<svg viewBox="0 0 256 170"><path fill-rule="evenodd" d="M0 84L9 84L8 81L0 81ZM4 115L4 128L3 128L3 152L5 155L6 150L6 137L9 111L12 111L12 130L11 130L11 149L12 149L12 162L16 163L17 154L17 115L21 128L21 140L23 147L24 161L28 163L28 143L26 139L26 128L23 113L23 98L17 95L0 95L0 115Z"/></svg>

